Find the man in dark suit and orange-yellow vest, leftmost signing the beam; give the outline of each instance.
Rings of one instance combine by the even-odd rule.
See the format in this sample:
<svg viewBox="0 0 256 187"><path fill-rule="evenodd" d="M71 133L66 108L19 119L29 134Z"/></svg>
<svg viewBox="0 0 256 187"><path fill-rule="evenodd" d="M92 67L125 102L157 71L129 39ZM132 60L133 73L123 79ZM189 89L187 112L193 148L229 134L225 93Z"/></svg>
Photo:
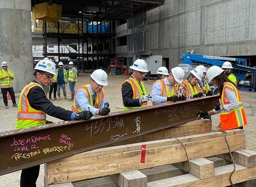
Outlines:
<svg viewBox="0 0 256 187"><path fill-rule="evenodd" d="M48 123L46 115L69 120L89 120L92 112L72 112L54 106L46 97L44 89L55 75L55 63L50 60L41 60L34 68L34 80L24 87L19 96L16 129L43 126ZM21 187L36 186L40 165L23 169L21 172Z"/></svg>

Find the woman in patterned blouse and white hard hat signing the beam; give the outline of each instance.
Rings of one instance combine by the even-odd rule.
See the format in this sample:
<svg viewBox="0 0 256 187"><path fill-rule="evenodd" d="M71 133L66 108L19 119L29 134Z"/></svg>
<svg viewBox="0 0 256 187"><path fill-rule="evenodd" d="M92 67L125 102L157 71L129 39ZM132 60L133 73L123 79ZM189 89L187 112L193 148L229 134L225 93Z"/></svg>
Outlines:
<svg viewBox="0 0 256 187"><path fill-rule="evenodd" d="M195 98L202 97L203 93L200 92L200 89L197 85L198 80L202 81L203 71L200 69L194 69L190 71L187 80L182 81L178 85L178 94L186 98Z"/></svg>

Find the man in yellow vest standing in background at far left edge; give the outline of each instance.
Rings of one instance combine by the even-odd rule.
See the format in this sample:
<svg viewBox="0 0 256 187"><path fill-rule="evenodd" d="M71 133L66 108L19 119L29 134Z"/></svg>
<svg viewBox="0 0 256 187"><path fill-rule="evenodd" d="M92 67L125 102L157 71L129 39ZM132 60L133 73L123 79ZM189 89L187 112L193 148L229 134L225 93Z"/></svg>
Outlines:
<svg viewBox="0 0 256 187"><path fill-rule="evenodd" d="M3 95L3 102L5 105L5 108L9 108L7 92L9 92L9 94L11 95L12 106L18 107L18 105L16 104L16 98L15 98L13 87L12 87L12 82L14 79L13 71L8 69L8 63L6 61L3 61L1 66L2 66L2 70L0 71L0 87Z"/></svg>

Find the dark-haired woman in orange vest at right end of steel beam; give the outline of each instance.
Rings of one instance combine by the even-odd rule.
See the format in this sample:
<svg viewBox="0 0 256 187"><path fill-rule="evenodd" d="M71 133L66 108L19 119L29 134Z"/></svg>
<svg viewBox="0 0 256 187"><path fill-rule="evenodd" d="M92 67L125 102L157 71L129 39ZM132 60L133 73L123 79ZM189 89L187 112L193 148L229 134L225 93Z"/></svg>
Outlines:
<svg viewBox="0 0 256 187"><path fill-rule="evenodd" d="M243 103L237 87L225 75L222 68L212 66L207 71L209 81L219 87L222 97L219 105L211 111L200 111L199 117L220 113L220 126L223 131L235 128L243 128L247 125Z"/></svg>

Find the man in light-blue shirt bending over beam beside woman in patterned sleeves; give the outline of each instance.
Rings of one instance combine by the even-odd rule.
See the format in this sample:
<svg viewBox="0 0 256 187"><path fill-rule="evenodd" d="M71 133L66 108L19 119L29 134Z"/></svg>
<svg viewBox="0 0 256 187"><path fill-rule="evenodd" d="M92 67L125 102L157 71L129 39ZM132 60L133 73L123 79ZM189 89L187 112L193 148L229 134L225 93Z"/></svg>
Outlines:
<svg viewBox="0 0 256 187"><path fill-rule="evenodd" d="M183 97L178 97L175 84L182 83L184 75L185 72L181 67L174 67L167 77L155 81L151 93L153 105L183 100Z"/></svg>

